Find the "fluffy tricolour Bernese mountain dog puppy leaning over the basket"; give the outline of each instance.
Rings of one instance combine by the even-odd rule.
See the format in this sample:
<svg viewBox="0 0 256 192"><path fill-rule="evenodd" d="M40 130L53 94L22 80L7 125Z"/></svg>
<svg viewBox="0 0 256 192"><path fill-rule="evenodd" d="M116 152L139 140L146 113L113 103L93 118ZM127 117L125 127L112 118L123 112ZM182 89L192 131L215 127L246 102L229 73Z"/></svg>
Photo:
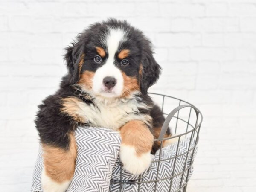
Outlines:
<svg viewBox="0 0 256 192"><path fill-rule="evenodd" d="M91 25L66 51L68 74L39 105L35 120L44 152L44 191L64 192L72 180L79 126L119 131L124 169L142 173L160 146L154 138L165 120L147 93L161 70L151 42L126 21L109 19Z"/></svg>

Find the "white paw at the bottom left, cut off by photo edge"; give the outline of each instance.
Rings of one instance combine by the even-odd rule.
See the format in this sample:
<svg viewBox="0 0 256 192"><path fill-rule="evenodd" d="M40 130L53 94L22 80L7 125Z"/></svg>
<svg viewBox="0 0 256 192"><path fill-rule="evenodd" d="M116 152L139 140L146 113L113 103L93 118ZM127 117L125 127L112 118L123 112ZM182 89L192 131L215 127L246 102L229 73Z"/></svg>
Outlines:
<svg viewBox="0 0 256 192"><path fill-rule="evenodd" d="M58 183L52 180L49 176L47 176L46 172L43 169L41 175L41 185L44 192L65 192L69 184L70 181Z"/></svg>

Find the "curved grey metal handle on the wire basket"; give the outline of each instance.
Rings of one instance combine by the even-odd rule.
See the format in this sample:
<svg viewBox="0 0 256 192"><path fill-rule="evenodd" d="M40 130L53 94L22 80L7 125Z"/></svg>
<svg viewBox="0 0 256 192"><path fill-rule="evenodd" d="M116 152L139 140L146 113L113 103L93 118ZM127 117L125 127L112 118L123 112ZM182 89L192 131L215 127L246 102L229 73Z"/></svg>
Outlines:
<svg viewBox="0 0 256 192"><path fill-rule="evenodd" d="M168 129L169 123L172 120L172 117L175 115L175 113L177 113L178 111L180 111L180 109L186 108L186 107L192 107L195 110L195 114L196 114L196 118L198 119L198 110L195 106L193 105L180 105L177 108L175 108L174 110L171 111L171 113L169 113L169 115L166 117L165 121L163 122L163 126L160 132L160 135L158 137L158 140L163 140L164 135ZM197 125L195 125L196 128Z"/></svg>

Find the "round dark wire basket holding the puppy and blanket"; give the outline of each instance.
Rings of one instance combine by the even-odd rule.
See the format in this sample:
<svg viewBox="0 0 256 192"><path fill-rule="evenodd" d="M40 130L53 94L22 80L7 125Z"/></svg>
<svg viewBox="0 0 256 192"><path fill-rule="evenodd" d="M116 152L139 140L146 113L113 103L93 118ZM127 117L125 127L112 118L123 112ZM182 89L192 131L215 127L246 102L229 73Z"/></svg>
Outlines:
<svg viewBox="0 0 256 192"><path fill-rule="evenodd" d="M120 169L120 180L111 180L111 183L119 184L119 192L122 192L122 185L124 184L137 184L138 185L138 192L140 192L140 185L141 183L154 183L154 192L157 192L157 185L162 180L168 180L169 182L169 192L186 192L186 187L188 183L189 178L189 172L190 169L192 169L192 165L194 162L194 154L195 149L198 145L199 140L199 131L201 128L201 123L203 120L202 113L196 108L194 105L190 104L189 102L183 101L182 99L177 99L172 96L167 96L163 94L158 93L149 93L154 102L156 102L159 106L161 106L162 112L165 115L166 119L163 123L163 126L160 131L160 135L157 139L154 141L160 142L160 149L159 149L159 158L158 160L154 160L152 163L158 163L157 164L157 174L156 178L154 180L148 180L143 181L141 178L141 175L139 176L138 180L129 180L129 181L123 181L122 180L122 164ZM170 113L170 109L173 109ZM194 113L194 112L195 113ZM164 135L167 131L167 129L171 127L172 128L172 137L165 137ZM186 152L183 154L178 154L178 148L180 141L183 137L186 137L189 139L189 146ZM178 139L177 139L178 138ZM173 166L174 168L170 170L171 176L170 177L161 177L159 175L159 165L160 162L167 161L170 159L163 159L161 158L162 154L162 148L163 148L163 141L164 140L177 140L177 149L176 149L176 155L175 157L172 157L174 159ZM191 145L192 140L194 141L194 145ZM192 160L188 161L188 156L192 155ZM189 166L184 166L184 169L178 173L174 173L175 166L176 166L176 160L180 155L184 155L186 160L185 163L189 163ZM172 188L172 182L173 178L177 175L181 175L181 181L179 184L178 189L171 190Z"/></svg>

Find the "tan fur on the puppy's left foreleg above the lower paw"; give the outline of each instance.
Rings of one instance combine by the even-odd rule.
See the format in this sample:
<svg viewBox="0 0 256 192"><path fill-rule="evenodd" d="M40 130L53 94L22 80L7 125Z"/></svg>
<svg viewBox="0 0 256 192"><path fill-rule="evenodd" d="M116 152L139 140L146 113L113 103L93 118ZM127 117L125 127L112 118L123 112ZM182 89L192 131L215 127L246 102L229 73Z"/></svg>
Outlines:
<svg viewBox="0 0 256 192"><path fill-rule="evenodd" d="M76 164L76 140L72 134L69 135L69 149L66 151L61 148L43 144L44 169L48 177L62 183L71 180L75 172Z"/></svg>

